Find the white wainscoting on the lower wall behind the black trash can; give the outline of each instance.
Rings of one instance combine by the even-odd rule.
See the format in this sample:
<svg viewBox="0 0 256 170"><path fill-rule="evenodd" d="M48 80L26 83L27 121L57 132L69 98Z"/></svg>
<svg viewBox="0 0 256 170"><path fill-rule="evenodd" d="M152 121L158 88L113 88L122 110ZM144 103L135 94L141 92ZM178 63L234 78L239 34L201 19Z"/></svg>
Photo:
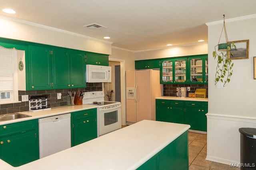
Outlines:
<svg viewBox="0 0 256 170"><path fill-rule="evenodd" d="M207 113L206 160L222 164L240 163L241 127L256 128L256 117Z"/></svg>

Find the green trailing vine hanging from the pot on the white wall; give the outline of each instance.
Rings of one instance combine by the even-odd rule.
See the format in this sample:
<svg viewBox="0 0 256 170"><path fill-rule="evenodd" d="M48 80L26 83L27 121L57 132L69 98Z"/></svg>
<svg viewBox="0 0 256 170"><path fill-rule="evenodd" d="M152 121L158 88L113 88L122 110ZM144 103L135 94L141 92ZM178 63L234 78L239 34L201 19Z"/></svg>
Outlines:
<svg viewBox="0 0 256 170"><path fill-rule="evenodd" d="M216 66L216 73L215 73L215 85L220 81L223 83L223 87L226 85L226 83L230 82L230 77L233 74L233 66L234 63L232 63L232 60L229 59L228 53L230 53L230 47L234 47L236 49L236 45L234 43L227 44L227 50L226 51L221 51L220 53L217 53L216 47L215 46L215 51L213 51L212 55L214 59L217 58L217 66ZM233 53L230 53L230 55L233 56Z"/></svg>

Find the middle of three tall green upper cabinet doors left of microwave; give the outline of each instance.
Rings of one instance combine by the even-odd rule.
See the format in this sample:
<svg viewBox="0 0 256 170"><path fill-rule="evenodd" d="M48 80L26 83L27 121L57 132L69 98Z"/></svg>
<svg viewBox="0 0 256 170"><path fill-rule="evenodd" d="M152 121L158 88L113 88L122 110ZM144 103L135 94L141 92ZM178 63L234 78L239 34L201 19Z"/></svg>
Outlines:
<svg viewBox="0 0 256 170"><path fill-rule="evenodd" d="M53 88L65 89L70 84L68 51L63 48L52 49Z"/></svg>

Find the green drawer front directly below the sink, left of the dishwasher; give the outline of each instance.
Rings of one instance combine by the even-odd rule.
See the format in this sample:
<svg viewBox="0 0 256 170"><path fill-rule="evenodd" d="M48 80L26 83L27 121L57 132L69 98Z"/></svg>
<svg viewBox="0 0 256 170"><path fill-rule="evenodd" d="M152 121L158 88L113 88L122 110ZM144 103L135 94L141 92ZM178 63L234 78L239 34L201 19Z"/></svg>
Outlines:
<svg viewBox="0 0 256 170"><path fill-rule="evenodd" d="M36 128L38 119L0 125L0 137L14 133L29 131Z"/></svg>

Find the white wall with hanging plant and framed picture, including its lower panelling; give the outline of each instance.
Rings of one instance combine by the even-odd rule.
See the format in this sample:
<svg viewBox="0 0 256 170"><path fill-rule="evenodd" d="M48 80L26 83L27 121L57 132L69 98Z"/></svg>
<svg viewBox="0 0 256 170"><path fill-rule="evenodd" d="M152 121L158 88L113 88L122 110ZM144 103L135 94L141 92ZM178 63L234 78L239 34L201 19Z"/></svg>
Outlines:
<svg viewBox="0 0 256 170"><path fill-rule="evenodd" d="M253 57L256 56L256 15L225 20L229 41L249 39L249 59L233 60L233 75L225 88L214 86L216 61L212 57L218 44L222 22L208 25L208 160L225 164L240 162L240 127L256 127L256 80ZM222 35L220 43L224 43Z"/></svg>

